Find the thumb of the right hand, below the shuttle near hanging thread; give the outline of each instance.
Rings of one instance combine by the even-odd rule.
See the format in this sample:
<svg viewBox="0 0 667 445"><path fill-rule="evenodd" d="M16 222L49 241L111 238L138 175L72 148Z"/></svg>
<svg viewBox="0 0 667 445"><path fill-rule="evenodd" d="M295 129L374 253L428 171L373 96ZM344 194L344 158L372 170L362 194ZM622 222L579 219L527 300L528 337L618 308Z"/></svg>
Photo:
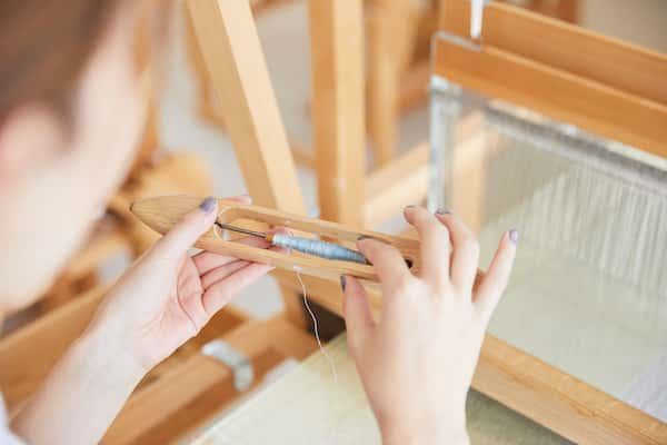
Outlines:
<svg viewBox="0 0 667 445"><path fill-rule="evenodd" d="M351 276L340 276L340 286L344 291L342 314L347 328L348 345L356 354L368 338L375 322L370 313L368 296L364 286Z"/></svg>

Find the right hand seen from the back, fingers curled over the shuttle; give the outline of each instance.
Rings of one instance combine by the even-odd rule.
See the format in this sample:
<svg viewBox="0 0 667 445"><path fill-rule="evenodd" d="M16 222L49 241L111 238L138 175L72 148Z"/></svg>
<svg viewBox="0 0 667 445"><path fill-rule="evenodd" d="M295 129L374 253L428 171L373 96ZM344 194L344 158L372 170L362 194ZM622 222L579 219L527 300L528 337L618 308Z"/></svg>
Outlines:
<svg viewBox="0 0 667 445"><path fill-rule="evenodd" d="M364 287L341 277L348 345L385 445L466 444L466 396L518 234L502 236L476 283L479 245L456 216L412 206L405 217L421 240L421 270L411 274L389 245L357 243L379 276L382 314L375 322Z"/></svg>

